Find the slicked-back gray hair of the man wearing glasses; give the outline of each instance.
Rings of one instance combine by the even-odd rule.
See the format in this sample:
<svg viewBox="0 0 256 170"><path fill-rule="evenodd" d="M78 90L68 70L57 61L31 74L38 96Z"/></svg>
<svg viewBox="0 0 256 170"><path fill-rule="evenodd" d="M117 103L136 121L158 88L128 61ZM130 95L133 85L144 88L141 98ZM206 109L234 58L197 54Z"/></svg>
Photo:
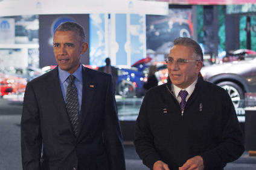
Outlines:
<svg viewBox="0 0 256 170"><path fill-rule="evenodd" d="M188 37L176 38L173 41L173 46L176 46L176 45L192 47L194 49L194 53L196 54L195 56L196 59L203 61L203 52L201 47L196 41L192 40L191 38L188 38Z"/></svg>

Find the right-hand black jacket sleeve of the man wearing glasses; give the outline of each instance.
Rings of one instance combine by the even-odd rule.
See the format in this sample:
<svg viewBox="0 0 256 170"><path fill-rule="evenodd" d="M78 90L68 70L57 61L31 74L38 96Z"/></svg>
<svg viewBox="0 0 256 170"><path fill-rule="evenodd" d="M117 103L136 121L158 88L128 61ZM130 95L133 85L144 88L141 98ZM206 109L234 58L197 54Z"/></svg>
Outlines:
<svg viewBox="0 0 256 170"><path fill-rule="evenodd" d="M205 169L224 167L226 163L232 162L243 154L243 132L238 123L232 101L225 91L222 97L222 135L220 144L213 150L200 154L203 158ZM221 100L221 99L220 99Z"/></svg>

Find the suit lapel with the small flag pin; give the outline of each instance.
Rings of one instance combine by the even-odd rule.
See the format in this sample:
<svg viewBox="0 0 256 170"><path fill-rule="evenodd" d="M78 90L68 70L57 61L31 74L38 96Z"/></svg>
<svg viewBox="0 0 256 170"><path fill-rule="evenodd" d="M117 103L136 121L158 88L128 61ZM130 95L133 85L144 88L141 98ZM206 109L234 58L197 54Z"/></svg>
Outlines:
<svg viewBox="0 0 256 170"><path fill-rule="evenodd" d="M86 121L86 117L89 115L89 111L91 109L92 104L92 97L94 96L95 92L95 82L94 78L88 71L89 68L83 68L83 92L82 92L82 105L81 105L81 112L80 112L80 127L83 126L83 123ZM81 129L81 128L80 128ZM80 133L80 129L78 134Z"/></svg>

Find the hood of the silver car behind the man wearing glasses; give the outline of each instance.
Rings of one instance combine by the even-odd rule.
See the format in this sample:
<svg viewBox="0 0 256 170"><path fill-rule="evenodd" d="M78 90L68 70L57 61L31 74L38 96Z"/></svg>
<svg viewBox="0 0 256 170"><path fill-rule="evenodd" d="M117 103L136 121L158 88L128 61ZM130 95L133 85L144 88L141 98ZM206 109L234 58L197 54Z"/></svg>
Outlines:
<svg viewBox="0 0 256 170"><path fill-rule="evenodd" d="M223 64L214 64L205 66L201 69L201 73L204 79L215 76L217 74L229 73L229 74L243 74L252 67L255 67L256 59L249 61L233 61L225 62Z"/></svg>

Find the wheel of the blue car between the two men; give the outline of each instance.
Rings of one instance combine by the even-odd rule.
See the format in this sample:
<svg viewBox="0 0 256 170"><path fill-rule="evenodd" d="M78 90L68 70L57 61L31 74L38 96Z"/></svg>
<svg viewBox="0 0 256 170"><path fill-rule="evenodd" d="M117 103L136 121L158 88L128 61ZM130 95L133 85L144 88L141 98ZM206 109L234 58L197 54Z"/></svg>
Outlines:
<svg viewBox="0 0 256 170"><path fill-rule="evenodd" d="M127 80L122 80L118 84L118 94L125 98L130 98L135 96L136 90L133 83Z"/></svg>

